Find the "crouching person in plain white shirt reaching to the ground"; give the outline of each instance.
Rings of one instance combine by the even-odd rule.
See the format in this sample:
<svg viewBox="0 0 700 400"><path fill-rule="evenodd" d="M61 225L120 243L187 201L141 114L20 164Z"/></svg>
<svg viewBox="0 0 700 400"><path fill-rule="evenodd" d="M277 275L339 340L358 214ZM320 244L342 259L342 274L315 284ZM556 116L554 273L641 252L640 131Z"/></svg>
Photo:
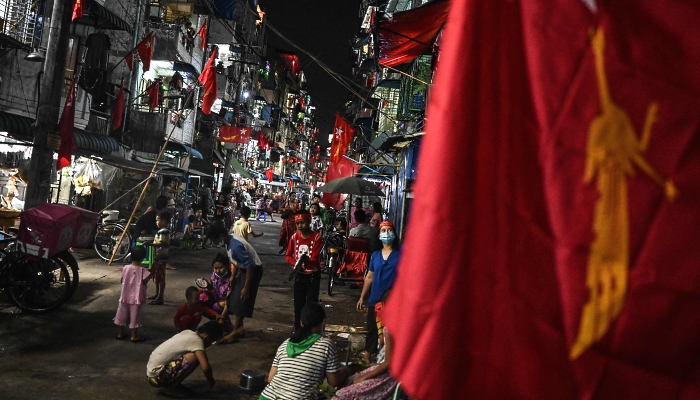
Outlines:
<svg viewBox="0 0 700 400"><path fill-rule="evenodd" d="M221 335L221 325L209 321L200 326L197 332L184 330L166 340L153 350L148 359L148 383L163 388L164 394L169 396L190 395L190 389L182 386L182 381L199 366L209 387L214 387L216 381L205 350L219 340Z"/></svg>

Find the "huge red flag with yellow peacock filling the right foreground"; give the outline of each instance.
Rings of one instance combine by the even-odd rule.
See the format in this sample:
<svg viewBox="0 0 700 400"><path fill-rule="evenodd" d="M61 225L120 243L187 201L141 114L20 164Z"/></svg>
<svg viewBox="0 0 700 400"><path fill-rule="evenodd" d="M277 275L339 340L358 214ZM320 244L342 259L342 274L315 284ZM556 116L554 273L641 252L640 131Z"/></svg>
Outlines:
<svg viewBox="0 0 700 400"><path fill-rule="evenodd" d="M384 312L412 397L700 398L699 19L452 2Z"/></svg>

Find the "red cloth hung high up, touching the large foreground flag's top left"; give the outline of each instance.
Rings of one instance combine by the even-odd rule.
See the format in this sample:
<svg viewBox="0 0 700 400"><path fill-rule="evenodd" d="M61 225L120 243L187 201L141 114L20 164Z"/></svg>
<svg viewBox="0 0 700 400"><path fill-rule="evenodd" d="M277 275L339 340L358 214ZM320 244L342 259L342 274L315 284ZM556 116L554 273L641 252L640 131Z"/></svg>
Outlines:
<svg viewBox="0 0 700 400"><path fill-rule="evenodd" d="M379 64L394 67L425 54L447 19L450 2L431 1L421 7L382 19L379 34Z"/></svg>

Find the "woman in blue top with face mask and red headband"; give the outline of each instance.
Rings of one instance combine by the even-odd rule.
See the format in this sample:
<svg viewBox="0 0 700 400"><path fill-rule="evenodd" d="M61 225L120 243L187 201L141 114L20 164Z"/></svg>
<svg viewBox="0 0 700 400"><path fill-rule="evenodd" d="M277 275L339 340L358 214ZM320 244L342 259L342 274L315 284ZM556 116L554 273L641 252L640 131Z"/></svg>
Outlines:
<svg viewBox="0 0 700 400"><path fill-rule="evenodd" d="M379 240L382 249L372 253L369 260L365 284L362 286L360 300L357 301L357 310L364 311L365 297L369 293L369 307L367 308L367 340L365 342L364 359L369 361L372 354L377 352L377 323L374 314L374 306L384 293L391 289L396 279L396 266L399 264L399 247L394 224L384 220L379 224Z"/></svg>

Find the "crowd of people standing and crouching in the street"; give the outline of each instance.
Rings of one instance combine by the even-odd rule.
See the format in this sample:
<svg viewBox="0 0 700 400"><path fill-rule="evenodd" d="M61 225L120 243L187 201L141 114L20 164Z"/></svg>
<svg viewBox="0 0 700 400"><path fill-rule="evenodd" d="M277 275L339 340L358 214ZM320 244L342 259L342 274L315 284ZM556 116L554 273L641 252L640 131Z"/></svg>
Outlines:
<svg viewBox="0 0 700 400"><path fill-rule="evenodd" d="M142 326L142 308L149 299L150 281L156 286L150 304L163 304L165 270L169 266L167 195L170 193L164 190L155 207L137 222L138 233L153 235L153 239L139 242L132 249L131 264L121 270L122 291L114 318L119 326L118 340L127 337L132 342L143 340L138 329ZM302 208L304 203L310 204ZM206 239L225 243L226 252L214 256L209 279L198 278L197 286L186 289L185 302L173 317L178 333L158 346L148 360L149 383L162 388L166 395L191 394L182 381L197 368L213 386L215 380L206 349L213 343L231 343L245 337L244 319L253 316L263 265L249 239L262 233L256 233L250 225L252 210L247 205L239 208L240 217L230 226L222 221L223 210L229 207L226 196L219 196L214 206L214 221L207 224L203 207L199 208L189 216L184 234L201 237L205 232ZM258 216L260 212L272 216L268 203L257 208L260 207L264 209L256 210ZM217 215L219 210L221 213ZM400 257L393 224L383 220L379 203L365 210L361 198L352 207L350 221L339 219L335 226L328 226L320 196L314 196L311 202L308 199L297 202L290 196L278 211L282 219L280 254L284 254L292 271L289 280L293 281L294 327L291 337L280 345L272 360L260 399L316 399L324 381L335 388L334 398L339 400L390 398L396 381L389 370L391 336L383 329L381 308L395 280ZM211 229L215 224L218 227ZM323 336L325 312L319 305L324 231L335 230L344 235L348 225L352 227L349 236L365 238L371 254L357 309L367 313L364 365L373 360L375 363L354 374L340 365L333 341ZM153 255L149 255L149 248ZM210 321L200 325L203 318Z"/></svg>

